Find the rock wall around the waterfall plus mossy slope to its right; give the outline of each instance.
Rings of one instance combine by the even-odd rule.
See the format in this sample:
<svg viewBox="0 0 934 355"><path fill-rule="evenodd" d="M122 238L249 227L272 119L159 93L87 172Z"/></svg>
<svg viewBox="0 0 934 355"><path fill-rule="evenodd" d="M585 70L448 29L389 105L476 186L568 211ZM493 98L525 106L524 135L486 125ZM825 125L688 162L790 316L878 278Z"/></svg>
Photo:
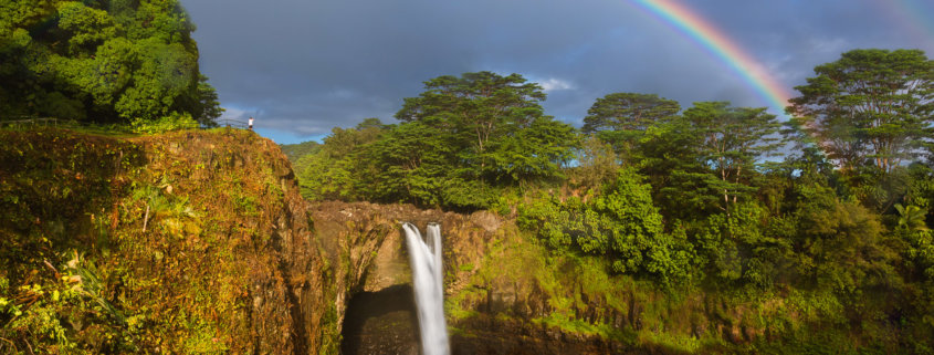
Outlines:
<svg viewBox="0 0 934 355"><path fill-rule="evenodd" d="M392 301L411 297L410 289L399 289L411 283L402 221L422 230L441 225L454 354L724 352L723 342L749 344L783 326L769 321L785 312L780 299L736 306L703 292L672 297L650 282L610 274L597 258L555 254L512 220L485 211L322 202L312 219L336 265L336 326L353 327L345 341L377 344L345 347L345 354L417 353L417 337L400 331L412 327L414 315L396 312L403 306ZM384 311L348 309L359 306L351 305L358 296L367 300L363 307ZM360 331L370 333L354 333Z"/></svg>

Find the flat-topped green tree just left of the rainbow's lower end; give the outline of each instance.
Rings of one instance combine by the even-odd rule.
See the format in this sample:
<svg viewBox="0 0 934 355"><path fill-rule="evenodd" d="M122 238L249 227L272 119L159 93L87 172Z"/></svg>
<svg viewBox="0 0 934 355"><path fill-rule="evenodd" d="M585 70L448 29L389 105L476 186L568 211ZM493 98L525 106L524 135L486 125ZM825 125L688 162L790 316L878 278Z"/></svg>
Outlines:
<svg viewBox="0 0 934 355"><path fill-rule="evenodd" d="M777 149L778 126L765 108L694 103L647 132L637 146L638 165L657 186L663 210L674 213L669 216L723 211L728 218L731 207L756 190L749 182L760 159Z"/></svg>

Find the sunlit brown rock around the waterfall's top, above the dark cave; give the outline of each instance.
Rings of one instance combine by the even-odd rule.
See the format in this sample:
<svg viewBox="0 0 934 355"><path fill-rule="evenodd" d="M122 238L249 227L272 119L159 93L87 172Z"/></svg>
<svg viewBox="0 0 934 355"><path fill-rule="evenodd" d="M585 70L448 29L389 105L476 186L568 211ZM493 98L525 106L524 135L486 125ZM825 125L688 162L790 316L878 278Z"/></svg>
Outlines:
<svg viewBox="0 0 934 355"><path fill-rule="evenodd" d="M402 222L411 222L420 230L429 222L441 225L445 293L456 290L462 283L461 274L470 271L456 267L479 262L502 223L489 212L463 216L410 205L336 201L315 205L312 219L329 263L337 265L335 304L342 321L354 294L411 284Z"/></svg>

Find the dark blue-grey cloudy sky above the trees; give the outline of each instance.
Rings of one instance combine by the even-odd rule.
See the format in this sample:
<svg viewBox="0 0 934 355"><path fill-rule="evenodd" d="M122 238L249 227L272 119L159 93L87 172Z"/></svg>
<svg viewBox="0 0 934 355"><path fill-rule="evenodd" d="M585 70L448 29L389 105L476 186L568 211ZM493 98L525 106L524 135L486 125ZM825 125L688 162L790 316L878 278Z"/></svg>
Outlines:
<svg viewBox="0 0 934 355"><path fill-rule="evenodd" d="M934 56L930 0L181 0L217 88L221 118L279 144L321 140L367 117L396 123L403 98L441 75L518 73L545 113L579 127L607 94L658 94L682 107L769 107L757 83L791 96L814 67L854 49ZM678 18L718 33L746 61ZM682 18L683 20L683 18ZM696 28L695 28L696 30ZM713 33L709 32L707 34ZM706 38L710 39L710 38ZM734 65L734 66L731 66ZM758 70L758 75L747 75Z"/></svg>

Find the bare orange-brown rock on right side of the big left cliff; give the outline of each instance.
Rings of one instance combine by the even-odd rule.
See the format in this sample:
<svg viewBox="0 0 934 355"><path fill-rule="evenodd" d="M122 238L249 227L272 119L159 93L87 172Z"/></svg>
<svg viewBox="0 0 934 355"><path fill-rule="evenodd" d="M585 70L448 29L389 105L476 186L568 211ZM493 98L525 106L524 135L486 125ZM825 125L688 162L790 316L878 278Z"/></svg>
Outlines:
<svg viewBox="0 0 934 355"><path fill-rule="evenodd" d="M222 252L232 252L233 270L246 278L245 315L229 323L249 324L249 334L232 334L233 348L260 354L307 354L326 347L333 335L322 328L327 322L328 270L315 244L308 223L308 205L298 194L288 160L270 139L250 132L183 132L145 136L133 140L148 158L140 178L170 181L175 191L211 218L212 228L227 240L230 251L208 249L182 258L217 263ZM243 210L243 206L248 210ZM208 226L212 225L212 226ZM228 288L230 288L228 285Z"/></svg>

